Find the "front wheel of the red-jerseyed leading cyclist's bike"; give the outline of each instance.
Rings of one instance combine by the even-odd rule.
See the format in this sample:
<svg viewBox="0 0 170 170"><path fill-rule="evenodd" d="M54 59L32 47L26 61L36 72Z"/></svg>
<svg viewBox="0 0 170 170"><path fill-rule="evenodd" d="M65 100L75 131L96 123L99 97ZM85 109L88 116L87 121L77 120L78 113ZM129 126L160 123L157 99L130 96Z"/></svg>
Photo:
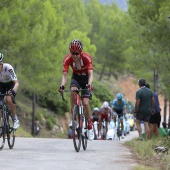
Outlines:
<svg viewBox="0 0 170 170"><path fill-rule="evenodd" d="M72 115L72 136L73 136L73 144L74 148L77 152L80 151L81 147L81 139L82 139L82 122L80 120L79 108L77 105L73 108L73 115Z"/></svg>

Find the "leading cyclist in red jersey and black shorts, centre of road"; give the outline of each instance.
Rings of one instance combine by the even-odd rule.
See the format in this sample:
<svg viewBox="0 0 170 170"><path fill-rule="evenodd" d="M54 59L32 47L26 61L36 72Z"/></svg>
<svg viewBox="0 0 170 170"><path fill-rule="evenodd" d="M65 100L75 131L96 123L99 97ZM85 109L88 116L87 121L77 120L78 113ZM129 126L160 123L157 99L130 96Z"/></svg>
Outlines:
<svg viewBox="0 0 170 170"><path fill-rule="evenodd" d="M67 78L68 78L68 69L71 66L73 70L70 88L71 90L77 89L87 89L82 92L83 94L83 106L86 110L86 116L88 119L88 139L94 139L93 132L93 121L92 121L92 111L89 105L89 100L91 99L91 90L92 90L92 81L93 81L93 65L92 65L92 57L86 53L82 52L83 44L80 40L74 39L69 45L70 53L67 54L63 59L63 75L61 85L59 87L59 92L64 90ZM88 90L90 89L90 91ZM71 108L74 106L74 92L71 93L70 103ZM72 109L71 109L72 112Z"/></svg>

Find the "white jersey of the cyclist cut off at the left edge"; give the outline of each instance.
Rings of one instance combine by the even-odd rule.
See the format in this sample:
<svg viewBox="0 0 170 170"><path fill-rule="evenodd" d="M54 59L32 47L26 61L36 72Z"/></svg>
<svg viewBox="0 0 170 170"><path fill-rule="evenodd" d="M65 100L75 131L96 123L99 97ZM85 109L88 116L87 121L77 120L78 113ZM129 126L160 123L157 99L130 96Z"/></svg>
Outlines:
<svg viewBox="0 0 170 170"><path fill-rule="evenodd" d="M9 83L14 80L17 80L17 76L14 72L13 67L10 64L4 63L2 71L0 73L0 82Z"/></svg>

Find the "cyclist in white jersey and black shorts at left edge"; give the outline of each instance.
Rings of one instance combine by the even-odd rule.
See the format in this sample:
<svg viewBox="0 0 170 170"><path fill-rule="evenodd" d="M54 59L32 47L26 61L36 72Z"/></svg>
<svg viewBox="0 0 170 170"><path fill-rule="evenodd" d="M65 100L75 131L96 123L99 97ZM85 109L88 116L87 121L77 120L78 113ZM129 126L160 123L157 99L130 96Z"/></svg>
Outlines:
<svg viewBox="0 0 170 170"><path fill-rule="evenodd" d="M15 97L19 87L19 82L13 67L8 63L4 63L3 60L4 55L0 53L0 93L5 94L8 92L8 94ZM16 105L12 102L10 96L6 96L5 101L12 112L11 117L13 120L13 128L17 129L20 123L16 114Z"/></svg>

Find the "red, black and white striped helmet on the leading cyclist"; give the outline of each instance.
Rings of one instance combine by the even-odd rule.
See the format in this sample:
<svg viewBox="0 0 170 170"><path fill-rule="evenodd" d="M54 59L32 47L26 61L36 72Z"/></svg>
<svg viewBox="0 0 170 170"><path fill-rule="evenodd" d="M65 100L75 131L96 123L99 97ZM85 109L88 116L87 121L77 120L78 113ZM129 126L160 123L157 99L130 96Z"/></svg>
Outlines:
<svg viewBox="0 0 170 170"><path fill-rule="evenodd" d="M69 50L71 53L81 53L83 50L83 44L80 40L75 39L69 45Z"/></svg>

